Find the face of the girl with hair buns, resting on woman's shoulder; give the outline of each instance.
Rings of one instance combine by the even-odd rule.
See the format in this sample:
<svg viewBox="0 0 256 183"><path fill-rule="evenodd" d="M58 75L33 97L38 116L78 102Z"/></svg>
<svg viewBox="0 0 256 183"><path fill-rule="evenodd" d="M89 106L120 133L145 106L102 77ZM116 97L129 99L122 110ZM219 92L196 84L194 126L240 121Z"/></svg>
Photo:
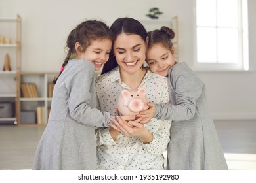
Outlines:
<svg viewBox="0 0 256 183"><path fill-rule="evenodd" d="M173 50L172 50L173 52ZM168 70L175 64L172 52L163 44L154 44L146 54L146 62L153 73L168 75Z"/></svg>

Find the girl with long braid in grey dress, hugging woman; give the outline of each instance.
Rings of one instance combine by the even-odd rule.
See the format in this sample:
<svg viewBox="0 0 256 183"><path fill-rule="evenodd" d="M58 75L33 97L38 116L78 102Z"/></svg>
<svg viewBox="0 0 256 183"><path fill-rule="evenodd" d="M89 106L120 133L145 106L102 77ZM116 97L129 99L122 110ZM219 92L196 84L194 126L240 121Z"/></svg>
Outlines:
<svg viewBox="0 0 256 183"><path fill-rule="evenodd" d="M112 46L109 27L82 22L66 43L68 55L53 81L49 121L33 169L96 169L95 129L109 127L110 114L96 109L95 91L95 71L108 61Z"/></svg>

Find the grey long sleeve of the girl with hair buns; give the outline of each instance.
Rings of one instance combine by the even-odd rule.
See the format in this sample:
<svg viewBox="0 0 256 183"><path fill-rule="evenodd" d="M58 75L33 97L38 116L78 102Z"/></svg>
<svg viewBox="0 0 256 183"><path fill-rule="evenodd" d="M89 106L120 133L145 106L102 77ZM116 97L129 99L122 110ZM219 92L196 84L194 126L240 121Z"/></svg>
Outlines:
<svg viewBox="0 0 256 183"><path fill-rule="evenodd" d="M169 72L169 104L157 104L154 117L165 120L189 120L196 113L196 101L200 97L203 82L185 64Z"/></svg>

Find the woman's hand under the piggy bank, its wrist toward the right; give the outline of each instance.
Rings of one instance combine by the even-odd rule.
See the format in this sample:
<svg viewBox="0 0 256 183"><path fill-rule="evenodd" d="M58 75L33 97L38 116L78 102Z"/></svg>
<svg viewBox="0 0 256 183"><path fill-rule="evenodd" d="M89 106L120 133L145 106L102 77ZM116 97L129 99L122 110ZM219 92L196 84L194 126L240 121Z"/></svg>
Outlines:
<svg viewBox="0 0 256 183"><path fill-rule="evenodd" d="M150 133L148 129L146 129L144 125L140 123L142 118L127 121L127 120L123 120L119 116L117 117L117 120L115 120L114 118L111 118L111 120L112 122L114 122L115 125L110 124L110 126L116 129L116 131L121 132L123 135L127 137L133 137L133 136L140 137L141 141L144 144L148 144L152 142L154 138L152 133Z"/></svg>

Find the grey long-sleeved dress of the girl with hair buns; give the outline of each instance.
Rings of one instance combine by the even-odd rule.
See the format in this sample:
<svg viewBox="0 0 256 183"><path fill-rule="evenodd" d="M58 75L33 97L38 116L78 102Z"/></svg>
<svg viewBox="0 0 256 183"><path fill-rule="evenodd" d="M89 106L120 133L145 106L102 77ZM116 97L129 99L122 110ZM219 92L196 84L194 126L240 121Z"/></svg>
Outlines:
<svg viewBox="0 0 256 183"><path fill-rule="evenodd" d="M168 169L228 169L213 120L205 84L186 63L169 69L171 105L156 105L156 118L173 120L167 148Z"/></svg>

